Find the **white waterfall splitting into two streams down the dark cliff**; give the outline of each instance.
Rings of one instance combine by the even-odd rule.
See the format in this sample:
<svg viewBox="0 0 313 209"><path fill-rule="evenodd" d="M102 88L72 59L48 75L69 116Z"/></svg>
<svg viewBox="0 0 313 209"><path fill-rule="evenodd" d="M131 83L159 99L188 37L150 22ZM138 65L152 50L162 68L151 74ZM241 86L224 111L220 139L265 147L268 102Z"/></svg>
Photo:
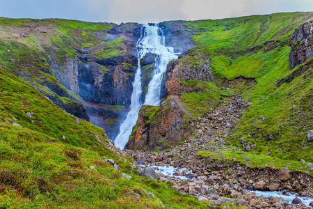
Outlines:
<svg viewBox="0 0 313 209"><path fill-rule="evenodd" d="M177 59L178 54L181 53L181 51L179 51L179 53L175 53L175 49L173 47L165 46L165 37L163 36L163 31L159 28L159 24L145 24L143 25L143 30L143 37L141 37L137 42L138 68L133 83L133 92L131 93L130 111L127 114L125 121L120 126L120 132L114 141L115 146L118 146L121 149L123 149L125 144L127 144L131 130L134 125L136 125L138 112L142 105L141 93L143 90L141 87L140 60L149 52L158 55L155 65L156 68L154 68L144 102L144 104L157 106L161 102L161 83L164 72L166 72L166 65L168 65L168 62L171 60Z"/></svg>

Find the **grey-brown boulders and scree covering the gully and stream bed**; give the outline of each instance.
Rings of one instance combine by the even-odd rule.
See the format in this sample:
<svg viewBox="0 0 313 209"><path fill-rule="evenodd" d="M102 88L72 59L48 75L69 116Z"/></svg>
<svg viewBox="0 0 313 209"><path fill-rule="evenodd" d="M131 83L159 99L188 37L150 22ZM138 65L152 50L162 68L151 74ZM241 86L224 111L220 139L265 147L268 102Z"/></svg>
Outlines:
<svg viewBox="0 0 313 209"><path fill-rule="evenodd" d="M223 138L230 134L234 124L242 117L242 112L250 103L243 102L240 95L234 95L232 100L223 102L212 109L212 114L198 118L192 126L195 131L192 137L182 145L159 153L143 150L125 150L137 160L139 173L145 176L157 177L159 180L174 183L172 188L182 194L198 196L199 201L210 201L215 206L222 203L234 203L247 208L312 208L300 203L294 204L282 198L273 196L256 196L248 189L299 192L301 196L313 196L313 178L307 173L290 172L288 169L250 168L233 160L223 160L222 151L239 151L238 148L227 146ZM254 148L249 141L242 143L246 150ZM209 150L221 158L219 160L197 155L201 150ZM149 165L170 165L188 168L176 171L174 176L188 176L188 179L165 176L158 173L150 175ZM298 203L298 204L296 204ZM208 207L213 207L209 205ZM226 208L224 206L223 208Z"/></svg>

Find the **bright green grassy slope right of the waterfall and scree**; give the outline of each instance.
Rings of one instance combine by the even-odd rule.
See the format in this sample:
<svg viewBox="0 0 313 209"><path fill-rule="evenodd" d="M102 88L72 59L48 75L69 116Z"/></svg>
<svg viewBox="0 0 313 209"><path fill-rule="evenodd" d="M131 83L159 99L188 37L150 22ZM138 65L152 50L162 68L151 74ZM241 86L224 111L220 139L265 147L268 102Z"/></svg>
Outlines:
<svg viewBox="0 0 313 209"><path fill-rule="evenodd" d="M234 89L252 105L234 127L236 137L228 138L230 144L242 148L239 138L243 137L257 144L252 153L313 162L313 143L306 139L307 131L313 129L311 65L300 77L292 75L312 58L292 70L289 65L293 33L310 20L313 13L184 22L187 29L183 33L192 32L196 44L188 53L211 57L211 71L219 86L223 86L224 78L236 82L236 77L246 77L257 82L241 92ZM167 26L172 24L175 22ZM280 81L284 82L281 86Z"/></svg>

